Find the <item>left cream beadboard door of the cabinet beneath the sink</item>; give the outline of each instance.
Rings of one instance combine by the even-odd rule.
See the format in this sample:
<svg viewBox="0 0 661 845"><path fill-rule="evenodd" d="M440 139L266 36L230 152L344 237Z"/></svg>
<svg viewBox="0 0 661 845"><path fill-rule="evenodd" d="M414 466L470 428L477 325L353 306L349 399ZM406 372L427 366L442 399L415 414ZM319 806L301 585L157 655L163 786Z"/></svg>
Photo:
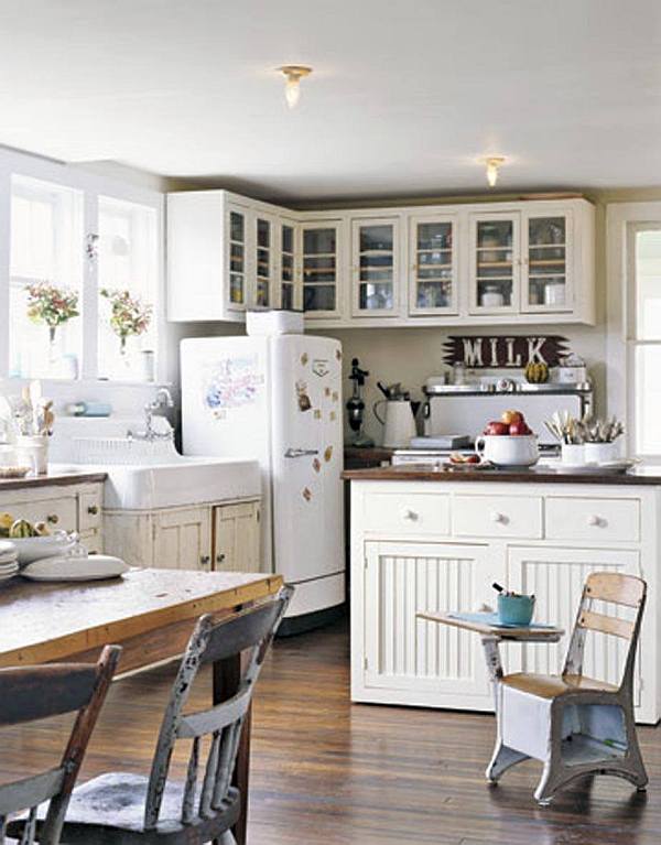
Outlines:
<svg viewBox="0 0 661 845"><path fill-rule="evenodd" d="M154 563L165 570L208 570L212 564L209 508L173 508L153 519Z"/></svg>

